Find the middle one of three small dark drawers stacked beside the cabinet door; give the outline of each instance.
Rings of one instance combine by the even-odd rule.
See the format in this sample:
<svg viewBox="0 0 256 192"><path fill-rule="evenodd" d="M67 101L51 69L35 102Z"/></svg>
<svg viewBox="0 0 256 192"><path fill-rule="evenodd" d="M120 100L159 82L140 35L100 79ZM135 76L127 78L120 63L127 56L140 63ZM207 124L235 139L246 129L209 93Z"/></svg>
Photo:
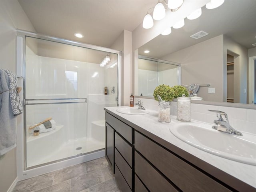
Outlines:
<svg viewBox="0 0 256 192"><path fill-rule="evenodd" d="M124 176L124 179L130 186L130 188L132 188L132 168L130 168L130 166L126 163L126 161L118 152L118 150L116 150L116 148L115 148L115 163L116 163L116 166L118 166L120 172Z"/></svg>

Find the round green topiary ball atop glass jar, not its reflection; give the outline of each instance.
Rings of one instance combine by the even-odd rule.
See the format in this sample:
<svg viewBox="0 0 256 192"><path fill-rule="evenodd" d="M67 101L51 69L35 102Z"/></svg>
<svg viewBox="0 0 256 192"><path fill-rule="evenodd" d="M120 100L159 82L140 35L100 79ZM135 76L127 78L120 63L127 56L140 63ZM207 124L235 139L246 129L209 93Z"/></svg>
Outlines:
<svg viewBox="0 0 256 192"><path fill-rule="evenodd" d="M168 85L159 85L155 88L153 96L156 101L159 101L157 96L160 96L162 100L172 101L174 98L174 90Z"/></svg>

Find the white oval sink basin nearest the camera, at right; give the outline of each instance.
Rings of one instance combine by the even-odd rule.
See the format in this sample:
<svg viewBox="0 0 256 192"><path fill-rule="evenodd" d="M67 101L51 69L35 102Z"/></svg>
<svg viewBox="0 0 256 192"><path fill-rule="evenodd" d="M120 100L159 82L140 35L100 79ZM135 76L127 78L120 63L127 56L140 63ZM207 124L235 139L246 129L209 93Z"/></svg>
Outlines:
<svg viewBox="0 0 256 192"><path fill-rule="evenodd" d="M182 123L170 128L180 140L208 153L256 166L256 136L236 136L212 129L210 124Z"/></svg>

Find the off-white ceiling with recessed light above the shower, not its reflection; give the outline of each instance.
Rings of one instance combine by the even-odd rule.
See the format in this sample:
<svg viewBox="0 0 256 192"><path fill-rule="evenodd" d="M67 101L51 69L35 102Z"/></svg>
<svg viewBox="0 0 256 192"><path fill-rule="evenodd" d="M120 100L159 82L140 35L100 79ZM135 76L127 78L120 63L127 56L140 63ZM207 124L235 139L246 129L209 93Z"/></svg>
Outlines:
<svg viewBox="0 0 256 192"><path fill-rule="evenodd" d="M36 32L110 47L133 31L158 0L18 0ZM80 32L84 38L76 38Z"/></svg>

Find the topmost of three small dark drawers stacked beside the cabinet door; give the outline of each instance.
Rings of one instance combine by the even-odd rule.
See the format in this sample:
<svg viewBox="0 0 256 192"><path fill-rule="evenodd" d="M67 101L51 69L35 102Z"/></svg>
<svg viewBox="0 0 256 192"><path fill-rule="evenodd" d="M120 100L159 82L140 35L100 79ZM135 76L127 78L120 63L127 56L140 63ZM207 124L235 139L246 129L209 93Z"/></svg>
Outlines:
<svg viewBox="0 0 256 192"><path fill-rule="evenodd" d="M115 147L132 167L132 147L122 139L117 133L115 133Z"/></svg>

